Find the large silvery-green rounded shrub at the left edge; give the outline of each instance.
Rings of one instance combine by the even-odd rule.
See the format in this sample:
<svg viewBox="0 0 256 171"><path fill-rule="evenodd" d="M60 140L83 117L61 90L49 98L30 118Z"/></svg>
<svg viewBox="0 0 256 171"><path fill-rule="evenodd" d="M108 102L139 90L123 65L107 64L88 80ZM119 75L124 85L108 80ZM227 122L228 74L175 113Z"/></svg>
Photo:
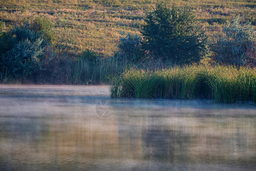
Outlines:
<svg viewBox="0 0 256 171"><path fill-rule="evenodd" d="M48 41L42 37L43 35L31 30L28 22L1 33L1 75L18 78L20 81L34 79L36 73L43 70L43 58L48 58L47 52L51 51Z"/></svg>

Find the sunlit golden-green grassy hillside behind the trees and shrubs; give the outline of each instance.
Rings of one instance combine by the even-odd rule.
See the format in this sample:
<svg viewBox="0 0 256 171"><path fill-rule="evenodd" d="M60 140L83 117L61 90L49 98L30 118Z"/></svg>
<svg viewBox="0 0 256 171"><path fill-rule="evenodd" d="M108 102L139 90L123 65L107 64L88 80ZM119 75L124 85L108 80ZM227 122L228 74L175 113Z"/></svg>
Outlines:
<svg viewBox="0 0 256 171"><path fill-rule="evenodd" d="M138 33L143 16L152 10L155 0L4 0L0 1L0 20L5 30L15 23L45 17L54 23L56 40L52 46L70 58L84 50L105 57L113 55L120 32ZM216 35L221 25L240 14L256 25L253 0L167 0L178 6L192 7L207 35ZM214 38L215 36L213 36ZM211 40L212 41L212 40Z"/></svg>

